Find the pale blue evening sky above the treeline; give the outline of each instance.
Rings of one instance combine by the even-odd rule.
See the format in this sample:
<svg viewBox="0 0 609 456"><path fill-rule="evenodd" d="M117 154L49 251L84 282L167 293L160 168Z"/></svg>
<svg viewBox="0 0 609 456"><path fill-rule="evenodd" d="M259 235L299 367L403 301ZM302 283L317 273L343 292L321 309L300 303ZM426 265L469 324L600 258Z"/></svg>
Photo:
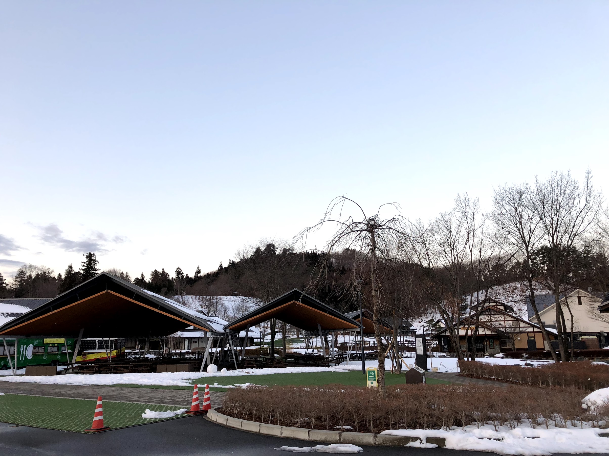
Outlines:
<svg viewBox="0 0 609 456"><path fill-rule="evenodd" d="M585 0L1 0L0 272L93 250L192 275L340 195L428 219L588 167L607 193L607 23Z"/></svg>

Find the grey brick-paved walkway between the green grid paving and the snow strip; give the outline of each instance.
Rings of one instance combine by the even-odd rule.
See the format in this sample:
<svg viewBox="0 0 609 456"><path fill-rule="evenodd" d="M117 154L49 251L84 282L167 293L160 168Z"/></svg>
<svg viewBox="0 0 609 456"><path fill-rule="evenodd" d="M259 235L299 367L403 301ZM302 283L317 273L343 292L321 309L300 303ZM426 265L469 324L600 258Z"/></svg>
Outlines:
<svg viewBox="0 0 609 456"><path fill-rule="evenodd" d="M101 385L43 385L40 383L0 382L0 392L27 394L32 396L52 396L55 398L97 399L102 396L107 401L141 402L143 404L163 404L166 406L189 407L192 390L168 390L160 388L129 388ZM199 389L200 399L205 390ZM224 392L209 392L211 406L222 405Z"/></svg>

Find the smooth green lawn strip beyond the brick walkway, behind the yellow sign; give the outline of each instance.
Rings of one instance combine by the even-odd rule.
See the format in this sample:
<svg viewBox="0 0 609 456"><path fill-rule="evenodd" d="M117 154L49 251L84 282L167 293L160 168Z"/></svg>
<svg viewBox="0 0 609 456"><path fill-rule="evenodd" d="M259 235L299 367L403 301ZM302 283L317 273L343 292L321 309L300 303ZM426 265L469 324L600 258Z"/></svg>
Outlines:
<svg viewBox="0 0 609 456"><path fill-rule="evenodd" d="M434 378L427 379L430 385L448 385L449 382ZM217 376L203 377L193 380L192 383L205 386L208 383L210 386L214 383L219 385L235 385L244 383L253 383L256 385L312 385L322 386L329 384L365 386L365 375L362 375L359 370L351 370L348 372L303 372L303 373L286 373L286 374L270 374L270 375L239 375L239 376ZM404 384L404 374L397 375L385 372L385 383L387 385ZM115 386L133 386L133 387L149 387L163 389L180 389L187 390L192 387L183 386L158 386L158 385L115 385ZM211 388L213 391L225 391L224 388Z"/></svg>

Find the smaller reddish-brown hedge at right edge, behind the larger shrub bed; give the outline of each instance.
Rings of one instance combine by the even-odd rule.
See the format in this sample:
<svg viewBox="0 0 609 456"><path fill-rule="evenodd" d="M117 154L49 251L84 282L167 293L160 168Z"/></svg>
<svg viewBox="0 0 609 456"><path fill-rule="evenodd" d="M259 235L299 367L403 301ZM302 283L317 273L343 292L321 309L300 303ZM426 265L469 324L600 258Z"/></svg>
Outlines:
<svg viewBox="0 0 609 456"><path fill-rule="evenodd" d="M549 363L542 367L459 361L461 375L537 387L576 387L594 391L609 387L609 366L588 361Z"/></svg>

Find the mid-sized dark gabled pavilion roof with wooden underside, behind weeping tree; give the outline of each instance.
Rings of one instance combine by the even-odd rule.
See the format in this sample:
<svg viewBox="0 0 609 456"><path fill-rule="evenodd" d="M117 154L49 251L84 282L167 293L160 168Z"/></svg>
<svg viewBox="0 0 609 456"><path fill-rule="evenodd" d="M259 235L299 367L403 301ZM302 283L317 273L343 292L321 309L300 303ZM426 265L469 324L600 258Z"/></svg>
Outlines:
<svg viewBox="0 0 609 456"><path fill-rule="evenodd" d="M294 288L271 302L253 309L224 326L225 330L242 331L272 318L305 331L317 331L317 324L325 331L358 329L359 323L336 309Z"/></svg>

